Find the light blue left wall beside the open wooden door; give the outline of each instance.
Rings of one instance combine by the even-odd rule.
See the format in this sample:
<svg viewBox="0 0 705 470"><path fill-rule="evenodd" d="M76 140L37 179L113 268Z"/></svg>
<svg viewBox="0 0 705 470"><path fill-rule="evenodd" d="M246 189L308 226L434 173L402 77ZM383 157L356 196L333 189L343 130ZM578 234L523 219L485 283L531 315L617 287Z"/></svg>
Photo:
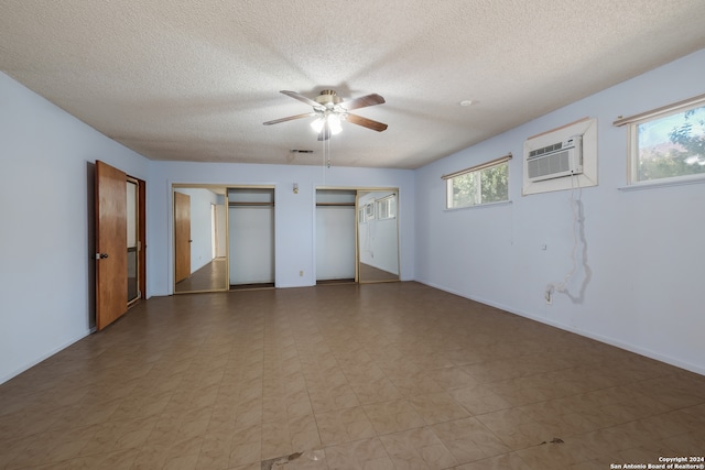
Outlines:
<svg viewBox="0 0 705 470"><path fill-rule="evenodd" d="M0 73L0 383L95 324L96 160L148 176L145 159Z"/></svg>

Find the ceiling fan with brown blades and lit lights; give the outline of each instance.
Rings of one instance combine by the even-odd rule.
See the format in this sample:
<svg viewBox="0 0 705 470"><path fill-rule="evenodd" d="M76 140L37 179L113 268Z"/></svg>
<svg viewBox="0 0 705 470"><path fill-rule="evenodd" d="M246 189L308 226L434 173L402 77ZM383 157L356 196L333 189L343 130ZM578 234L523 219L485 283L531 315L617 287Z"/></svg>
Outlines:
<svg viewBox="0 0 705 470"><path fill-rule="evenodd" d="M340 132L340 122L343 121L362 125L364 128L371 129L377 132L382 132L387 129L387 124L384 123L348 112L352 109L383 103L384 98L377 94L367 95L350 101L343 101L334 90L323 90L315 99L307 98L296 91L282 90L281 92L312 106L313 111L304 112L303 114L290 116L288 118L274 119L273 121L267 121L263 123L264 125L293 121L294 119L316 118L316 120L311 123L311 127L318 132L319 141L326 141L330 139L330 135L335 135Z"/></svg>

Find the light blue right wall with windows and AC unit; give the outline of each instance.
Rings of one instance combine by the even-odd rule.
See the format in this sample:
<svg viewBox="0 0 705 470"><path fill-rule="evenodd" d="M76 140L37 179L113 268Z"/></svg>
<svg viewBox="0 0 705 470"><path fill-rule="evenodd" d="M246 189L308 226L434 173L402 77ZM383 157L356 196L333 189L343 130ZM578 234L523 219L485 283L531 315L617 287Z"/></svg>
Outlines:
<svg viewBox="0 0 705 470"><path fill-rule="evenodd" d="M704 94L704 72L705 50L416 171L416 280L705 373L705 184L620 190L627 130L612 125ZM585 117L598 121L599 185L582 192L588 270L578 263L572 295L592 276L583 298L545 305L572 267L571 192L522 197L522 145ZM441 175L507 152L510 205L444 210Z"/></svg>

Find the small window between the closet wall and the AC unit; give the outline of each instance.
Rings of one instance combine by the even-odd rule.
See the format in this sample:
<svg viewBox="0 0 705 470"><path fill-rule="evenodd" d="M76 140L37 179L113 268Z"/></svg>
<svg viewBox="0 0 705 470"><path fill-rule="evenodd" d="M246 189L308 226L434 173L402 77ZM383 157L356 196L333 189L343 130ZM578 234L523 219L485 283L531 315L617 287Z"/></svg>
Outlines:
<svg viewBox="0 0 705 470"><path fill-rule="evenodd" d="M511 155L507 155L443 176L446 181L446 207L455 209L509 200L510 159Z"/></svg>

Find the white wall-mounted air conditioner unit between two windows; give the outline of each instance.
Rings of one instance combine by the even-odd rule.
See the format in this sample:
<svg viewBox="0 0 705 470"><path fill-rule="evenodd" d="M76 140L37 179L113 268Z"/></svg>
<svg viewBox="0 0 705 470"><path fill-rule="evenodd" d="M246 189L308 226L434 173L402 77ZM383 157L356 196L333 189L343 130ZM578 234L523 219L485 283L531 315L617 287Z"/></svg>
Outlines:
<svg viewBox="0 0 705 470"><path fill-rule="evenodd" d="M583 173L583 135L530 151L527 170L530 182Z"/></svg>

